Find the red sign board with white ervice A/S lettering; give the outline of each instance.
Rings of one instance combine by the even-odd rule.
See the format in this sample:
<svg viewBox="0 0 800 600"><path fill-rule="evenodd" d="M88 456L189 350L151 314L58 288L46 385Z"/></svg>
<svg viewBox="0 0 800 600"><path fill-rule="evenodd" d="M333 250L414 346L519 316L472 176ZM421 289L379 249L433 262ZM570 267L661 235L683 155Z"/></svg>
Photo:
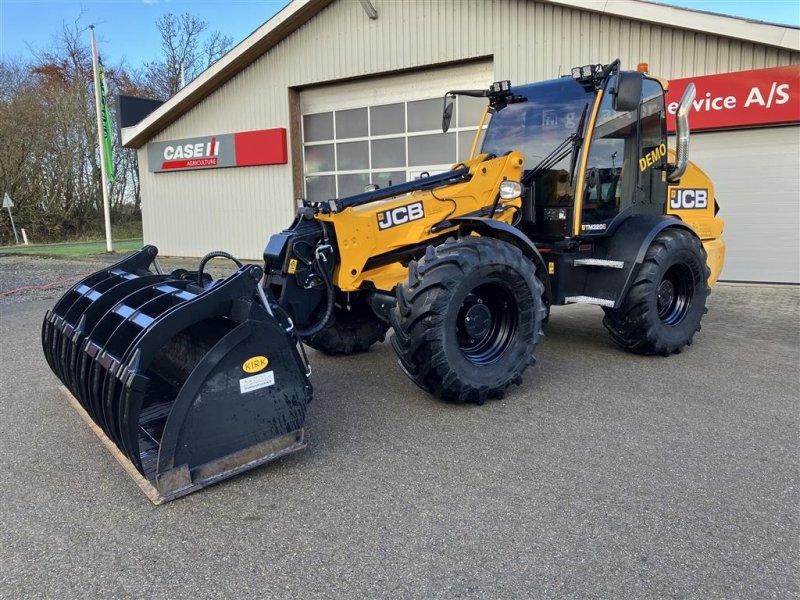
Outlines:
<svg viewBox="0 0 800 600"><path fill-rule="evenodd" d="M669 132L675 131L675 111L690 83L697 88L689 111L693 131L800 123L800 65L670 80Z"/></svg>

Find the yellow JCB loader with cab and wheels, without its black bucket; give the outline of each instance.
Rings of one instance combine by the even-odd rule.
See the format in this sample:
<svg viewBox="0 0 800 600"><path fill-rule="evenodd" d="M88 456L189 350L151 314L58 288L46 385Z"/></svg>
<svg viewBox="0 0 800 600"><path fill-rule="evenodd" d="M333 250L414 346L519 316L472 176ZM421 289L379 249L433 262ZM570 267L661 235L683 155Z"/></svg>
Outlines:
<svg viewBox="0 0 800 600"><path fill-rule="evenodd" d="M337 329L331 323L358 314L373 324L378 341L388 321L400 363L417 384L448 399L478 402L502 395L522 371L499 355L487 362L474 347L483 344L488 354L503 348L503 356L517 356L515 367L527 366L532 360L519 356L532 356L540 337L545 317L536 315L546 316L553 305L602 307L612 339L629 351L666 355L690 344L708 286L722 267L722 221L705 174L691 164L679 169L670 163L681 158L667 149L663 83L615 64L574 78L457 93L488 97L491 119L477 134L483 136L477 156L434 177L306 204L280 243L268 244L267 283L282 306L297 307L289 312L298 326L317 334L319 327ZM445 127L449 118L445 104ZM515 184L518 193L507 193ZM296 265L309 263L302 250L311 241L301 243L299 252L294 241L307 222L320 225L317 244L330 247L327 290L324 278L302 289L287 281ZM487 242L476 245L476 236ZM480 260L508 269L507 280L526 277L505 265L505 246L518 252L517 262L531 263L541 284L537 298L479 281L464 291L440 279L444 263L457 263L447 277L469 280ZM478 263L467 264L464 257L471 254ZM645 273L658 279L655 287L643 280ZM324 290L325 302L309 301L309 288L317 295ZM490 301L493 295L506 299L498 304ZM461 308L455 315L415 308L440 306L442 298ZM523 303L533 308L532 333L522 333L524 319L505 319ZM337 338L353 333L337 331ZM417 343L416 336L424 340ZM518 345L523 337L532 345ZM304 338L324 352L341 352L314 335ZM361 336L359 342L363 347L370 340ZM441 356L449 356L446 368L431 374L431 361ZM492 381L462 385L476 368Z"/></svg>

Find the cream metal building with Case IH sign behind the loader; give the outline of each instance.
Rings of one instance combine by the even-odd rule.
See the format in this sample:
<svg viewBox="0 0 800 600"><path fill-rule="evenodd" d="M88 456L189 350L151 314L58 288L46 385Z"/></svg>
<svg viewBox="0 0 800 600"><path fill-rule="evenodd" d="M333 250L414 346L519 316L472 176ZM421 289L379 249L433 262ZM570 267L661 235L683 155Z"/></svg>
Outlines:
<svg viewBox="0 0 800 600"><path fill-rule="evenodd" d="M294 0L123 129L139 149L145 241L165 255L257 259L297 197L399 183L465 157L482 105L460 97L442 134L447 90L617 57L667 79L791 66L789 117L695 131L691 159L727 221L722 278L800 283L800 29L640 0Z"/></svg>

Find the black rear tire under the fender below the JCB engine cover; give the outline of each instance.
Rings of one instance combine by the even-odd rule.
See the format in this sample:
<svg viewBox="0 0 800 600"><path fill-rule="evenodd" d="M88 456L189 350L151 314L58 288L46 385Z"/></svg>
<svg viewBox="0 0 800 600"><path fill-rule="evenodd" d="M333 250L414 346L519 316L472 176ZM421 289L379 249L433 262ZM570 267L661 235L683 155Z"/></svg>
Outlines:
<svg viewBox="0 0 800 600"><path fill-rule="evenodd" d="M678 353L692 343L710 293L706 252L683 229L659 233L647 250L622 306L604 309L603 325L623 349Z"/></svg>

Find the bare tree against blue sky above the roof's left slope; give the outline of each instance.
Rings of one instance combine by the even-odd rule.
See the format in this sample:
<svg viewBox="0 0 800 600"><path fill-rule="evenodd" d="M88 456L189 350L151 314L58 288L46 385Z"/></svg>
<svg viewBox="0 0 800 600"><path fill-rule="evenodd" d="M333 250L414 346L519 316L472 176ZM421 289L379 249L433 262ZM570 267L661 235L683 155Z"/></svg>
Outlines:
<svg viewBox="0 0 800 600"><path fill-rule="evenodd" d="M218 31L206 34L208 23L183 13L166 13L156 21L161 34L161 56L145 63L147 83L163 100L181 88L181 68L188 83L227 52L233 40Z"/></svg>

